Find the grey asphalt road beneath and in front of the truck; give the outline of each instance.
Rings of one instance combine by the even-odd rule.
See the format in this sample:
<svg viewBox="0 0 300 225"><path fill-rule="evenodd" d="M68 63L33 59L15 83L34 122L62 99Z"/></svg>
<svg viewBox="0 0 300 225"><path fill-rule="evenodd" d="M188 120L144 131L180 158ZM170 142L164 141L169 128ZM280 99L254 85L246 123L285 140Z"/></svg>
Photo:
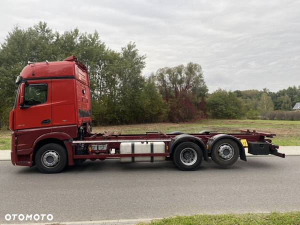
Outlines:
<svg viewBox="0 0 300 225"><path fill-rule="evenodd" d="M53 221L300 210L300 156L212 161L180 171L172 161L86 161L57 174L0 161L0 222L6 213L51 213ZM14 221L16 222L16 221Z"/></svg>

